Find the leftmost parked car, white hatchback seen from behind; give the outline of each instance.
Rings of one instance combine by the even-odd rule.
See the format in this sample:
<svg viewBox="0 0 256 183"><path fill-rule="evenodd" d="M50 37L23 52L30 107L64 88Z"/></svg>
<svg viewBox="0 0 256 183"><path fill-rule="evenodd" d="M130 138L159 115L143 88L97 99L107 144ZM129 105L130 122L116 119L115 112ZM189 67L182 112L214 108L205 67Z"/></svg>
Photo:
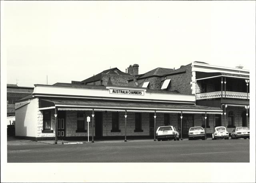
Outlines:
<svg viewBox="0 0 256 183"><path fill-rule="evenodd" d="M157 140L180 140L180 134L174 126L160 126L156 130Z"/></svg>

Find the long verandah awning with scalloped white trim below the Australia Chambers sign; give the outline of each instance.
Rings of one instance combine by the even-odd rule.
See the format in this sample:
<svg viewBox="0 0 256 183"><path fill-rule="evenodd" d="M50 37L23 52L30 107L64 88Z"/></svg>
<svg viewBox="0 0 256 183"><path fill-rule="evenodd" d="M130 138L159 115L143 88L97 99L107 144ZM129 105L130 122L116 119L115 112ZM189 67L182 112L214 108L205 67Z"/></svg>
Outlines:
<svg viewBox="0 0 256 183"><path fill-rule="evenodd" d="M112 112L157 112L157 113L192 113L222 114L218 107L166 104L149 102L114 102L82 99L39 99L39 110L57 108L58 110L112 111Z"/></svg>

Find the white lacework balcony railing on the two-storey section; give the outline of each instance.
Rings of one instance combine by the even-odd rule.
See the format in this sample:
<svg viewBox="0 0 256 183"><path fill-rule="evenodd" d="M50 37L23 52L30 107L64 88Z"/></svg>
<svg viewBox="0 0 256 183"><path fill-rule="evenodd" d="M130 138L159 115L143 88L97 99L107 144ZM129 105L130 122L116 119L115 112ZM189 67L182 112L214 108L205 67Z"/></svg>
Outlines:
<svg viewBox="0 0 256 183"><path fill-rule="evenodd" d="M196 94L196 100L203 100L203 99L210 99L210 98L221 98L221 95L222 95L222 98L225 98L225 91L198 93L198 94ZM226 91L226 98L247 99L247 93ZM248 93L248 99L250 99L250 93Z"/></svg>

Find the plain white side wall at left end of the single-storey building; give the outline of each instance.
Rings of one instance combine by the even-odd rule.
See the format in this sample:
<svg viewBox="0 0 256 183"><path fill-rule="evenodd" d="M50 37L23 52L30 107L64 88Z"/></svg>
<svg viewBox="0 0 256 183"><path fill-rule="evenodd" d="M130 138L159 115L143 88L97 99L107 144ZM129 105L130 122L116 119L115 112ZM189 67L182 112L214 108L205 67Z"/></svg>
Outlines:
<svg viewBox="0 0 256 183"><path fill-rule="evenodd" d="M36 136L38 98L30 99L30 103L15 110L15 135Z"/></svg>

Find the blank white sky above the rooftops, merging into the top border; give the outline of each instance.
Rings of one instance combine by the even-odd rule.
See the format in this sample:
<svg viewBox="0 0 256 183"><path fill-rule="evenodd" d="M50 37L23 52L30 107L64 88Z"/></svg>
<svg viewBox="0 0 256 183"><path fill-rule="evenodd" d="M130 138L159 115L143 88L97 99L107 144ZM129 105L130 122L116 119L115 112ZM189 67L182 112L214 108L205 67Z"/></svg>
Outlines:
<svg viewBox="0 0 256 183"><path fill-rule="evenodd" d="M135 63L139 74L193 61L244 69L255 63L255 1L10 1L1 6L1 53L6 54L1 62L6 61L9 84L71 83L109 68L125 72Z"/></svg>

